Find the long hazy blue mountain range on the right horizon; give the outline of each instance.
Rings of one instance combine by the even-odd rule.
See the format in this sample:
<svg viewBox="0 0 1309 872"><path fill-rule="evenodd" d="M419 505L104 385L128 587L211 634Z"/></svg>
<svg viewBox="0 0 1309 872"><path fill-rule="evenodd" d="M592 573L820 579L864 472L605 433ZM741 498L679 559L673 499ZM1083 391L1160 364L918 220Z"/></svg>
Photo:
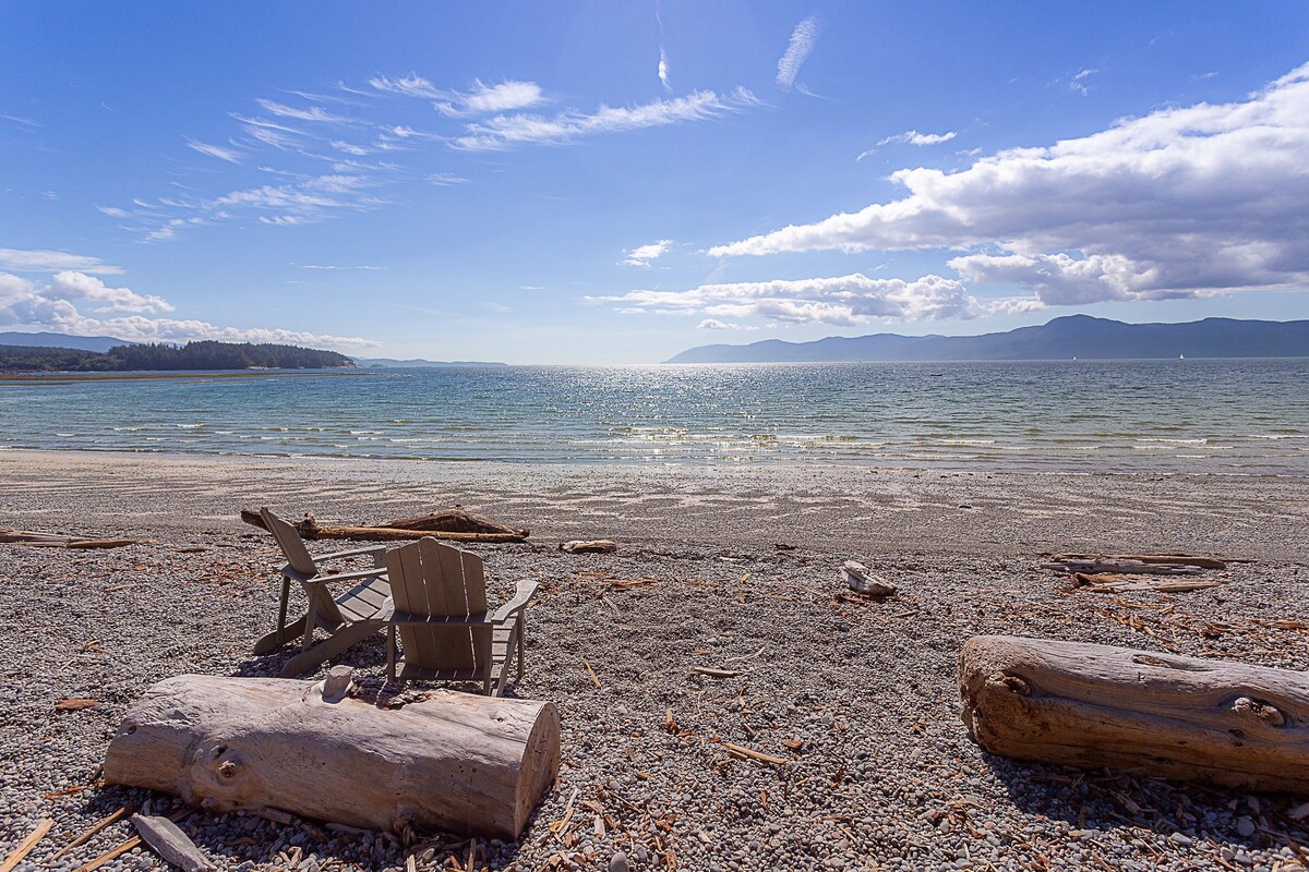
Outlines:
<svg viewBox="0 0 1309 872"><path fill-rule="evenodd" d="M1058 361L1175 357L1309 357L1309 320L1206 318L1185 324L1124 324L1090 315L1056 318L982 336L829 336L813 343L770 339L702 345L668 363L840 361Z"/></svg>

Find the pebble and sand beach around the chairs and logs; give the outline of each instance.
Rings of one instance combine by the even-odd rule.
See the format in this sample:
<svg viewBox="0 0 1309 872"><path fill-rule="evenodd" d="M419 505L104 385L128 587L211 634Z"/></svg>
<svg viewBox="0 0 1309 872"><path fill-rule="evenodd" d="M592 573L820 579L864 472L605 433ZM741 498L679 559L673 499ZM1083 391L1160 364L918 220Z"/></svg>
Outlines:
<svg viewBox="0 0 1309 872"><path fill-rule="evenodd" d="M1305 613L1305 478L35 451L0 451L0 527L148 541L0 545L0 856L52 817L29 856L41 864L145 799L94 777L153 682L276 675L289 656L249 652L271 629L281 560L240 509L359 523L454 503L533 531L529 544L474 550L492 599L520 578L542 583L512 693L558 703L559 783L514 843L432 834L402 846L198 812L183 829L220 867L381 869L412 856L469 868L470 848L479 869L606 869L618 851L634 869L711 872L1309 863L1309 821L1287 816L1305 797L996 758L970 741L954 682L963 641L982 633L1309 668L1309 630L1275 625ZM558 550L596 537L619 552ZM1038 569L1059 550L1255 562L1230 565L1212 590L1093 594ZM843 596L846 560L899 594ZM343 662L380 681L382 637ZM67 698L99 705L55 711ZM733 760L716 740L789 762ZM569 825L551 830L565 807ZM117 824L54 868L130 835ZM158 865L137 848L105 868Z"/></svg>

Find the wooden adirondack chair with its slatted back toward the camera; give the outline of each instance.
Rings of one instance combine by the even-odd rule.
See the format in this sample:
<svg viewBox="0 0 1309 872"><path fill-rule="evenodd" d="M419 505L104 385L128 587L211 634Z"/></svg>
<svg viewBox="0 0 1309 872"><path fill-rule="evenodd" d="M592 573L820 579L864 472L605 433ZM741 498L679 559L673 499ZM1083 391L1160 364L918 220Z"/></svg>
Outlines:
<svg viewBox="0 0 1309 872"><path fill-rule="evenodd" d="M524 611L535 582L520 582L513 599L487 617L482 558L431 536L386 552L395 613L386 642L386 676L395 681L395 635L404 650L401 681L480 681L504 693L509 658L522 679Z"/></svg>

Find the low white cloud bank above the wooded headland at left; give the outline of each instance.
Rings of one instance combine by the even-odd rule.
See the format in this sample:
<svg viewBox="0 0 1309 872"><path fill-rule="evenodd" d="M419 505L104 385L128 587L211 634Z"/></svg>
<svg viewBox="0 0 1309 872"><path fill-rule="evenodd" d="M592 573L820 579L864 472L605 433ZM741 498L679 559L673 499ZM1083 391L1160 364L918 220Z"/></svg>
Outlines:
<svg viewBox="0 0 1309 872"><path fill-rule="evenodd" d="M82 314L77 303L110 318ZM21 326L73 336L114 336L134 343L183 343L213 339L225 343L283 343L331 348L372 348L378 343L359 336L332 336L280 328L219 327L202 320L147 318L141 312L171 311L153 294L107 288L93 276L62 272L48 284L0 272L0 327ZM122 312L122 314L119 314Z"/></svg>

